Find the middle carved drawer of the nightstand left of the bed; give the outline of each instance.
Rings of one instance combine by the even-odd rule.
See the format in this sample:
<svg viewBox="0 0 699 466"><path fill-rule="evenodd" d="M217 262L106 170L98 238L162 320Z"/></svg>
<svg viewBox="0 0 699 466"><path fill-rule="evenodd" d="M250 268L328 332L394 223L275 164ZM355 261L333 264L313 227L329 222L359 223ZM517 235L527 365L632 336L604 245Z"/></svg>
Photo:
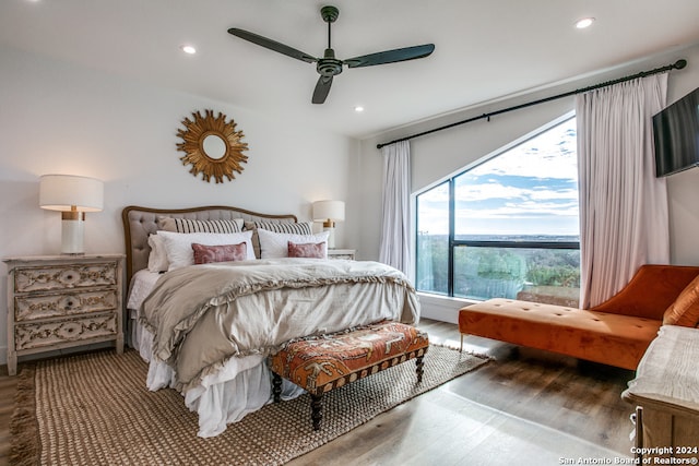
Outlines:
<svg viewBox="0 0 699 466"><path fill-rule="evenodd" d="M15 296L14 299L15 322L94 314L115 310L118 302L116 289Z"/></svg>

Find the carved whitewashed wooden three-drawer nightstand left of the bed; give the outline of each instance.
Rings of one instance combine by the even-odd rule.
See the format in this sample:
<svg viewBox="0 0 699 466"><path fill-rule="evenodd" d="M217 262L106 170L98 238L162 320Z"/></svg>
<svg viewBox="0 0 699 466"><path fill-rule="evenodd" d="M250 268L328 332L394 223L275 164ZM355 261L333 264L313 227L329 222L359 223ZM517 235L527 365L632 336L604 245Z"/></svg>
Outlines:
<svg viewBox="0 0 699 466"><path fill-rule="evenodd" d="M8 372L17 357L114 340L123 351L123 254L7 258Z"/></svg>

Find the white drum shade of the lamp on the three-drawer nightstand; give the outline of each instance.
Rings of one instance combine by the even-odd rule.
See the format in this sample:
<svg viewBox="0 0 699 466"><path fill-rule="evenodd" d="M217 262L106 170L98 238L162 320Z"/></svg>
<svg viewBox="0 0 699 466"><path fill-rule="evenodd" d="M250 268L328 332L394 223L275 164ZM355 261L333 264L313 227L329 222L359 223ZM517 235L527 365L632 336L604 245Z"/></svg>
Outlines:
<svg viewBox="0 0 699 466"><path fill-rule="evenodd" d="M73 175L44 175L39 182L39 206L49 211L99 212L104 183Z"/></svg>

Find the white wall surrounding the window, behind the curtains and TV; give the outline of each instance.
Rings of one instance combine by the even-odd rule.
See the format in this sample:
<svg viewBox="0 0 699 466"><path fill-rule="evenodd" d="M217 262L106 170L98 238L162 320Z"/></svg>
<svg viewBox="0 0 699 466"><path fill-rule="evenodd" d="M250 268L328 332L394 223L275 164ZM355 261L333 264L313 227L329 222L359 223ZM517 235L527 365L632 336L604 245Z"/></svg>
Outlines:
<svg viewBox="0 0 699 466"><path fill-rule="evenodd" d="M685 50L657 55L632 64L618 67L596 76L587 76L545 91L532 92L516 98L491 103L466 111L435 118L416 124L395 129L376 138L362 141L360 146L360 202L363 229L359 236L362 259L377 259L381 218L381 170L382 159L378 143L431 130L445 124L489 113L510 106L520 105L548 96L583 88L601 82L635 74L674 63L685 58L688 65L670 75L667 103L672 103L699 86L699 46ZM487 79L487 76L484 76ZM573 97L552 100L546 104L493 117L490 121L477 120L426 136L411 140L412 191L417 192L462 169L499 147L514 141L543 124L574 109ZM671 215L672 263L699 265L699 248L696 232L699 231L699 169L691 169L667 178ZM435 300L425 298L423 315L455 322L455 310L463 306L459 300ZM450 311L446 312L445 309Z"/></svg>

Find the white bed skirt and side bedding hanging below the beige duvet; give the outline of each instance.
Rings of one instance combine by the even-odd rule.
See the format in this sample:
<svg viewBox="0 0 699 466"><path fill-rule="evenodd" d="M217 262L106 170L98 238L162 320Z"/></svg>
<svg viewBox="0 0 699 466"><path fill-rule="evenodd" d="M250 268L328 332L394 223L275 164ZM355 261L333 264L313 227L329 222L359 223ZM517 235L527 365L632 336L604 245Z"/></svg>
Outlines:
<svg viewBox="0 0 699 466"><path fill-rule="evenodd" d="M133 276L127 308L131 321L131 344L149 362L146 386L151 391L175 385L173 369L153 360L153 334L139 324L138 310L161 274L141 270ZM271 374L261 355L232 358L223 369L204 378L201 385L185 396L185 405L199 416L199 437L218 435L226 425L242 419L272 399ZM298 386L284 381L282 397L291 399L303 394Z"/></svg>

